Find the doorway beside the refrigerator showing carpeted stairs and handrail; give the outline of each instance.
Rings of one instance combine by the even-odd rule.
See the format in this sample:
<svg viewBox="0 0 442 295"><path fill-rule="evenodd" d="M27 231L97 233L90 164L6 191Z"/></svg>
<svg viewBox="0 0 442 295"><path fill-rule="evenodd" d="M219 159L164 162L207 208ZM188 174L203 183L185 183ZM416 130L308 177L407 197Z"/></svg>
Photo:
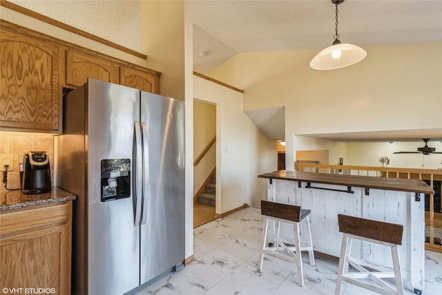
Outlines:
<svg viewBox="0 0 442 295"><path fill-rule="evenodd" d="M216 105L193 99L193 227L215 220Z"/></svg>

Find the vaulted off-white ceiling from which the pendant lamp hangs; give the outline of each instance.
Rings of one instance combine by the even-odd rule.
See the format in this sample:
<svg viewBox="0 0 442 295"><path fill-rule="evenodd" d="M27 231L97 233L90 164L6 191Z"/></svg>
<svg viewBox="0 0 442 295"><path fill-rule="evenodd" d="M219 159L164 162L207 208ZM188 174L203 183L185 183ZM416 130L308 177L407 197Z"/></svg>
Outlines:
<svg viewBox="0 0 442 295"><path fill-rule="evenodd" d="M209 73L237 53L332 45L330 0L193 1L194 70ZM442 41L441 0L346 0L338 6L343 43L370 46Z"/></svg>

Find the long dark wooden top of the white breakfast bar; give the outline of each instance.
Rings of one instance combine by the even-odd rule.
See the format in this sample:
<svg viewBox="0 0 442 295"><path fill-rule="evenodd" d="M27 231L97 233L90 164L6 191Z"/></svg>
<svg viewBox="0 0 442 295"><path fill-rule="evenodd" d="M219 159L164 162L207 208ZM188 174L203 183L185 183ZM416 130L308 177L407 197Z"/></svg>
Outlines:
<svg viewBox="0 0 442 295"><path fill-rule="evenodd" d="M383 178L374 176L337 175L300 171L274 171L258 175L258 178L291 180L324 184L345 185L346 187L364 187L388 191L410 191L412 193L432 194L434 191L423 180Z"/></svg>

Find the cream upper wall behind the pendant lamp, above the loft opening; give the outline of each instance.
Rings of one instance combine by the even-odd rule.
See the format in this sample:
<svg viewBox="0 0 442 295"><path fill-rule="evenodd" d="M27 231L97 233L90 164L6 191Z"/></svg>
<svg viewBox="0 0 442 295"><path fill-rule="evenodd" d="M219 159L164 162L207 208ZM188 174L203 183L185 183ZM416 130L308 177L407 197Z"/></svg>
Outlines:
<svg viewBox="0 0 442 295"><path fill-rule="evenodd" d="M287 167L294 135L442 128L442 43L364 48L329 71L309 68L318 50L241 53L210 77L243 89L245 110L285 106Z"/></svg>

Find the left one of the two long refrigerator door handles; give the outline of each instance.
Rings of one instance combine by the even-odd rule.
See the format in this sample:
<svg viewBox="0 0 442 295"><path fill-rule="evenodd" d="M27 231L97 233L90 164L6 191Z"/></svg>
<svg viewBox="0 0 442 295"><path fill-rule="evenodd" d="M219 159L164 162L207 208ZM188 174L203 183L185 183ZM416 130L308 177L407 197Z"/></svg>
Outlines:
<svg viewBox="0 0 442 295"><path fill-rule="evenodd" d="M141 220L141 210L142 210L142 189L143 189L143 154L142 154L142 135L141 135L140 122L134 122L135 130L135 192L133 197L134 208L135 208L135 227L140 225Z"/></svg>

